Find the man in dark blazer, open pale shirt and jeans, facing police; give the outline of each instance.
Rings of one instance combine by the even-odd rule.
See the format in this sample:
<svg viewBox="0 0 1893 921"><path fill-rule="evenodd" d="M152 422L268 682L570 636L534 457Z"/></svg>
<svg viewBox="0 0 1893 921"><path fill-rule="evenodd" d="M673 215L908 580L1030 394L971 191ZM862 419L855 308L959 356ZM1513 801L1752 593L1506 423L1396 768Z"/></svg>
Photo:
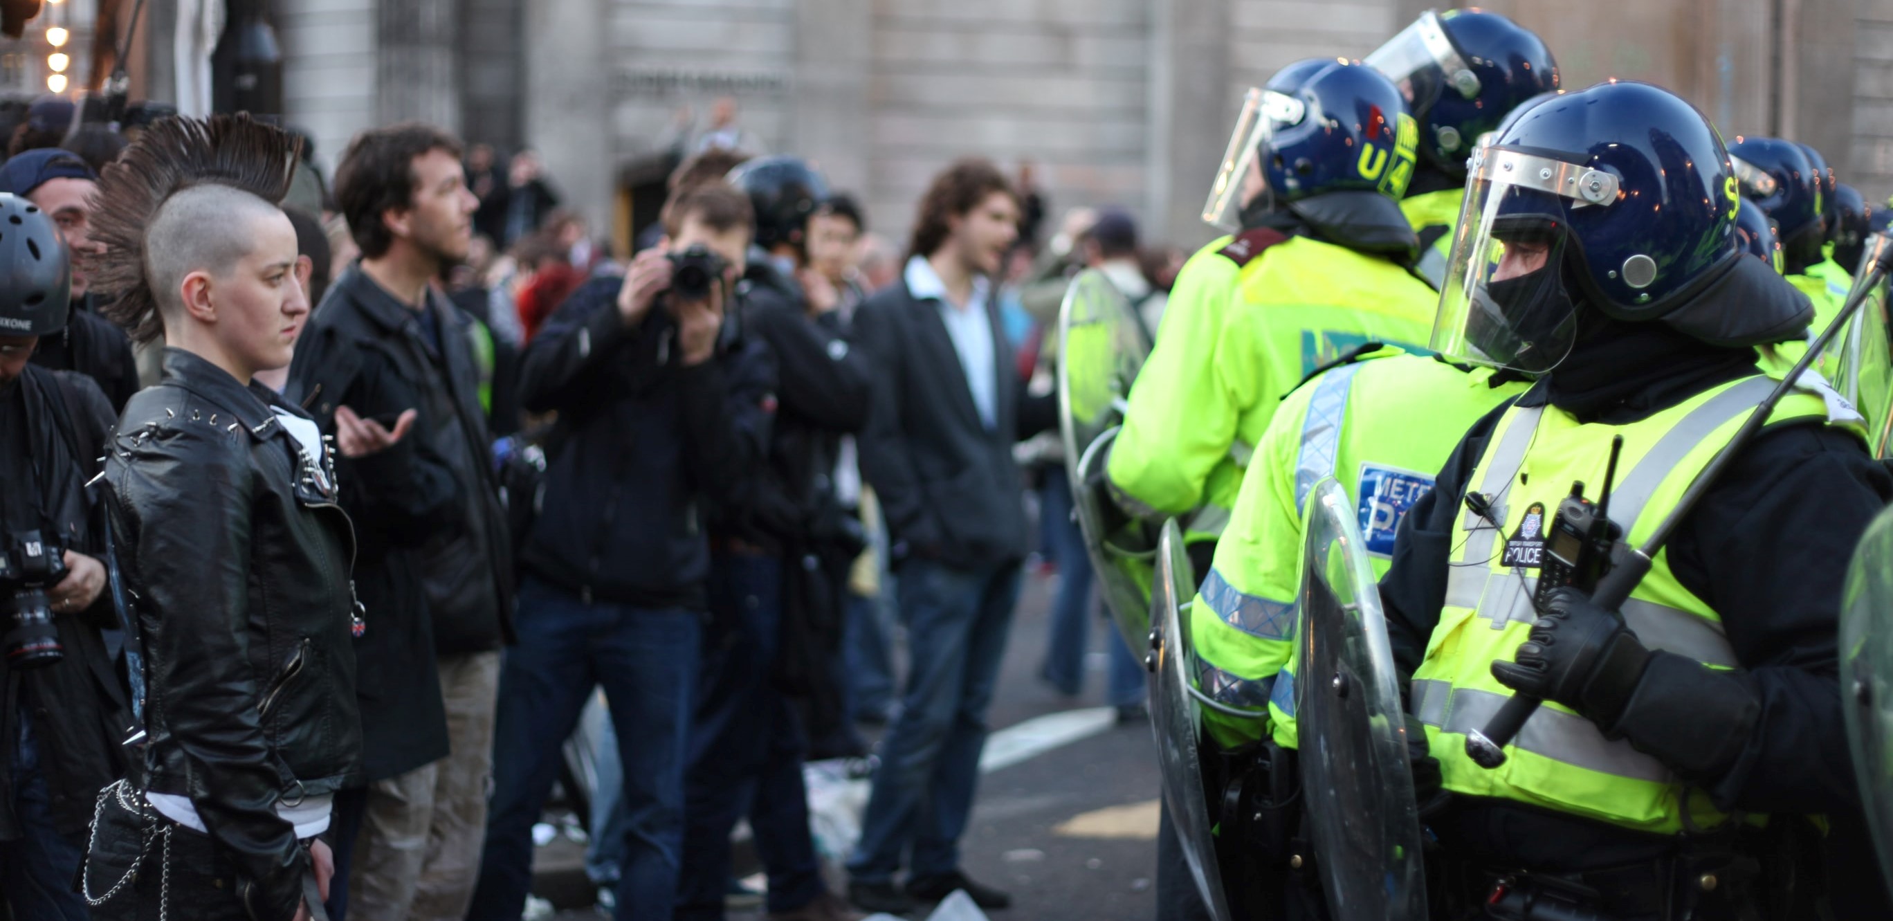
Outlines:
<svg viewBox="0 0 1893 921"><path fill-rule="evenodd" d="M1017 239L1005 176L954 163L920 199L903 282L854 316L876 362L861 468L888 515L914 661L848 860L848 894L871 912L954 889L982 908L1009 904L960 872L960 834L1028 550L1011 449L1053 423L1051 398L1026 396L1000 330L992 275ZM893 874L909 851L901 891Z"/></svg>

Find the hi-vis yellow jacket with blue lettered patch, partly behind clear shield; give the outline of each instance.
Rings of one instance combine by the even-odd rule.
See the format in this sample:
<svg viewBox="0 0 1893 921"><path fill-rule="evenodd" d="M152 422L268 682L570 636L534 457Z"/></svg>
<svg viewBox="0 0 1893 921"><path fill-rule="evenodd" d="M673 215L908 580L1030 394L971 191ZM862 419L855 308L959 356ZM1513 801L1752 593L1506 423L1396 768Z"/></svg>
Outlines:
<svg viewBox="0 0 1893 921"><path fill-rule="evenodd" d="M1272 726L1276 743L1295 747L1291 656L1308 491L1329 476L1340 483L1359 512L1374 574L1386 574L1401 517L1433 491L1454 445L1524 388L1492 387L1490 370L1382 349L1323 371L1282 402L1189 610L1202 659L1198 688L1219 703L1270 714L1268 722L1246 720L1204 707L1219 745L1257 741Z"/></svg>

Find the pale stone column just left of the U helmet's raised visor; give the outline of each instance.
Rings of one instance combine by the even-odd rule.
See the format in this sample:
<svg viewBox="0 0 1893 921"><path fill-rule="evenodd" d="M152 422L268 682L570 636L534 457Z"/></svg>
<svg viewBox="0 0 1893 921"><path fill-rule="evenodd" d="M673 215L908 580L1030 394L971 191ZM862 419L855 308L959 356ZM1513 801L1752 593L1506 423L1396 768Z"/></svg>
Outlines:
<svg viewBox="0 0 1893 921"><path fill-rule="evenodd" d="M1149 239L1210 239L1202 201L1229 140L1229 4L1151 0L1145 214Z"/></svg>

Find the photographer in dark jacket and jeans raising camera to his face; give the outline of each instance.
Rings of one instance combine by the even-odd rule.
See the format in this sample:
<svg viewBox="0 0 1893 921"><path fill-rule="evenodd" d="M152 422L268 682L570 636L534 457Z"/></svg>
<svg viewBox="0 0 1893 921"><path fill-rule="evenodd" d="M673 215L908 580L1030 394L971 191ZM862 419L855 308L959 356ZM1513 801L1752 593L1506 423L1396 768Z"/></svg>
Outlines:
<svg viewBox="0 0 1893 921"><path fill-rule="evenodd" d="M585 282L526 347L521 402L558 413L500 673L494 792L469 921L521 915L532 824L560 747L604 686L625 771L617 917L672 915L683 764L708 608L704 521L744 489L757 432L725 313L753 216L727 184L678 190L666 241ZM731 324L733 326L733 324ZM757 402L767 394L757 394Z"/></svg>

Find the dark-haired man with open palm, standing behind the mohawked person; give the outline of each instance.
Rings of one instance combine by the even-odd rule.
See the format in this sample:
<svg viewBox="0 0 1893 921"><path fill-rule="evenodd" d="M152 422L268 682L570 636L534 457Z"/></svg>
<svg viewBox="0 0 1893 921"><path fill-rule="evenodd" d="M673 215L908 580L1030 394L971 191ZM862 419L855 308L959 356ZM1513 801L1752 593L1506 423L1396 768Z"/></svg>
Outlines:
<svg viewBox="0 0 1893 921"><path fill-rule="evenodd" d="M513 605L471 320L430 284L466 258L477 203L460 144L416 123L358 135L335 195L362 262L324 298L288 392L337 436L345 500L377 548L358 582L375 595L371 625L390 627L371 629L362 648L363 735L379 779L350 902L367 921L458 921L485 838ZM435 669L439 684L428 686Z"/></svg>

